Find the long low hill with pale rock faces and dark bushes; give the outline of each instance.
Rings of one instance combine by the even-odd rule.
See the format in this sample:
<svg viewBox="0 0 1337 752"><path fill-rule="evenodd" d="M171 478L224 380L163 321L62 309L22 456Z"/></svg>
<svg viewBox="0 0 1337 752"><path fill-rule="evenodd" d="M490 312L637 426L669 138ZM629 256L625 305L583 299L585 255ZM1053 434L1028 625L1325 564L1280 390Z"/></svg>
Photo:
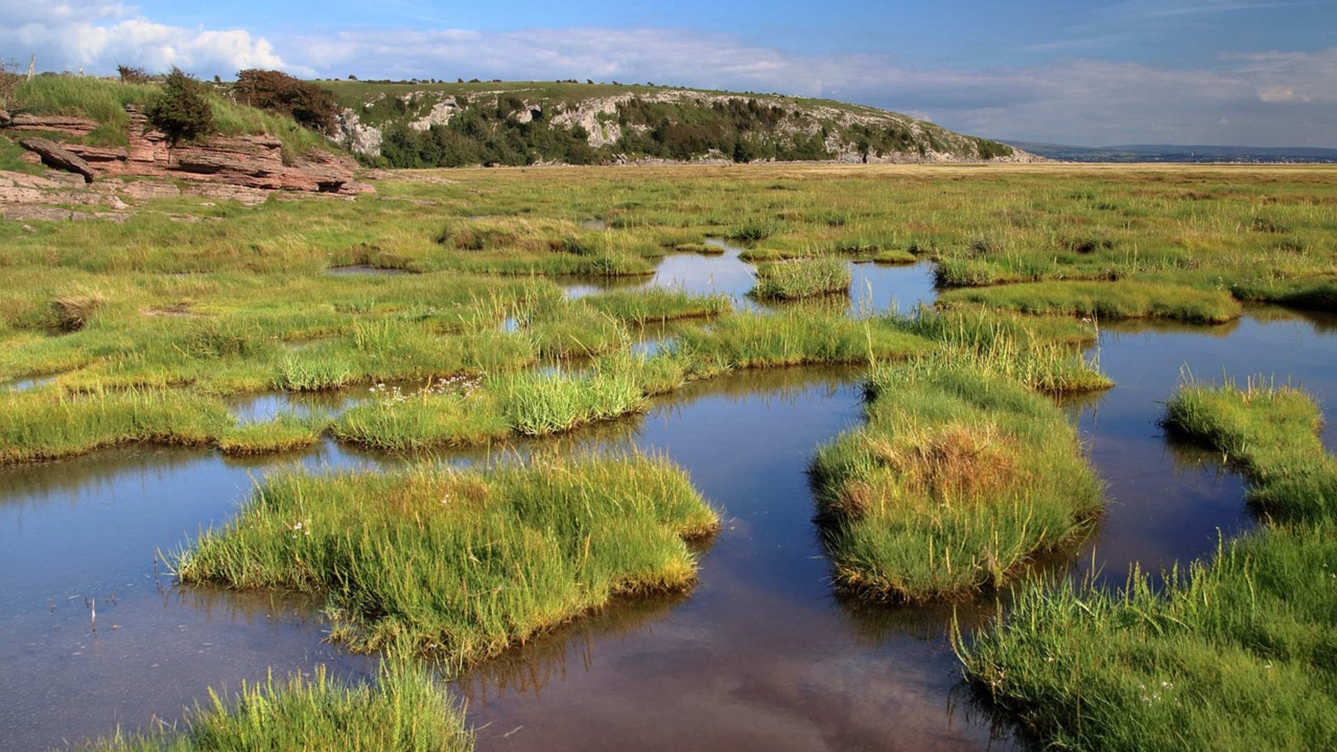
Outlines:
<svg viewBox="0 0 1337 752"><path fill-rule="evenodd" d="M321 82L346 146L393 167L627 161L1025 161L906 115L825 99L654 84Z"/></svg>

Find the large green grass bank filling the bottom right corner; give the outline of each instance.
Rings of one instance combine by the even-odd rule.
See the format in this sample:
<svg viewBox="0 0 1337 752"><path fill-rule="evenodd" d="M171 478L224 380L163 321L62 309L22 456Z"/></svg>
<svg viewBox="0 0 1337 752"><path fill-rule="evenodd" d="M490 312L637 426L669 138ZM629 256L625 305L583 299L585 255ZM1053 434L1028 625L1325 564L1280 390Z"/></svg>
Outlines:
<svg viewBox="0 0 1337 752"><path fill-rule="evenodd" d="M1189 384L1166 426L1249 478L1274 525L1222 542L1152 591L1027 586L959 644L971 684L1058 748L1330 749L1337 745L1337 462L1290 388Z"/></svg>

